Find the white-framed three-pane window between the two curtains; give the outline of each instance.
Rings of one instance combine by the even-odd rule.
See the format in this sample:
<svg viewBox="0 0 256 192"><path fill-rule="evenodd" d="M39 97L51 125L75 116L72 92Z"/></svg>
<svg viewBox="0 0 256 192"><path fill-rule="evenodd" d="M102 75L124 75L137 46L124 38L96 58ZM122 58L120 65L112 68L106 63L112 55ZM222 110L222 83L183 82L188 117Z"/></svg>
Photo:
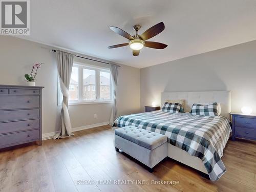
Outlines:
<svg viewBox="0 0 256 192"><path fill-rule="evenodd" d="M111 102L113 89L110 70L74 63L69 86L69 103ZM58 104L62 94L58 82Z"/></svg>

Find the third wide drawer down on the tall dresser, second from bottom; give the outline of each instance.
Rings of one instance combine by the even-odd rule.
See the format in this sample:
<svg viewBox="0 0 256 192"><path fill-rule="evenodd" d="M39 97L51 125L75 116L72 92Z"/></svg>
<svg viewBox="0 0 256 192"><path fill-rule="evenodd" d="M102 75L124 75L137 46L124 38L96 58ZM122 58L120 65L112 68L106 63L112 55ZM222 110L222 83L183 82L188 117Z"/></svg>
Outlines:
<svg viewBox="0 0 256 192"><path fill-rule="evenodd" d="M0 134L39 128L39 119L0 123Z"/></svg>

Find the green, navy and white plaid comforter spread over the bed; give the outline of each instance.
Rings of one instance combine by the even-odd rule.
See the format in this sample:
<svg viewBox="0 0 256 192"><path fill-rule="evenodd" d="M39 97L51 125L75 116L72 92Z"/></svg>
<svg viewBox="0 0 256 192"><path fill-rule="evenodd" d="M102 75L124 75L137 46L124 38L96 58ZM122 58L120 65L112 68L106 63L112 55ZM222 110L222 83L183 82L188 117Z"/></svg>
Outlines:
<svg viewBox="0 0 256 192"><path fill-rule="evenodd" d="M226 117L154 111L124 115L113 124L116 127L127 125L166 135L170 144L200 158L212 181L226 172L221 160L231 133Z"/></svg>

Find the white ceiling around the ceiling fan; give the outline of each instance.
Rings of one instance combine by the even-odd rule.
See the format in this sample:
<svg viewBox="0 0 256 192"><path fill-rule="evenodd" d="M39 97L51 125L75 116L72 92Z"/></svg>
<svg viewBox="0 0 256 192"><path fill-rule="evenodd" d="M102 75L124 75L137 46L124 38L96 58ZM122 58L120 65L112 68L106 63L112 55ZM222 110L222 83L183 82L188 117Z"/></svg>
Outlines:
<svg viewBox="0 0 256 192"><path fill-rule="evenodd" d="M30 36L22 37L137 68L157 65L256 39L255 0L31 0ZM164 50L143 48L134 57L127 42L108 27L134 35L163 22L151 38Z"/></svg>

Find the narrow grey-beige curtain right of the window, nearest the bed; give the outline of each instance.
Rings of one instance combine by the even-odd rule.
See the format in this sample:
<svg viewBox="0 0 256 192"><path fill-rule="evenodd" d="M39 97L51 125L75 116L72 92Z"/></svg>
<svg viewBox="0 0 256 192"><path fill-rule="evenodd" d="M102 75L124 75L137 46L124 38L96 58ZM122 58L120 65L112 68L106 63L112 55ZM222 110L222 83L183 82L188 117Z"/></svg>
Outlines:
<svg viewBox="0 0 256 192"><path fill-rule="evenodd" d="M110 64L110 72L113 82L113 91L114 91L114 103L113 103L113 109L110 117L110 125L113 125L114 121L117 118L117 106L116 106L116 86L117 86L117 76L118 76L118 66Z"/></svg>

